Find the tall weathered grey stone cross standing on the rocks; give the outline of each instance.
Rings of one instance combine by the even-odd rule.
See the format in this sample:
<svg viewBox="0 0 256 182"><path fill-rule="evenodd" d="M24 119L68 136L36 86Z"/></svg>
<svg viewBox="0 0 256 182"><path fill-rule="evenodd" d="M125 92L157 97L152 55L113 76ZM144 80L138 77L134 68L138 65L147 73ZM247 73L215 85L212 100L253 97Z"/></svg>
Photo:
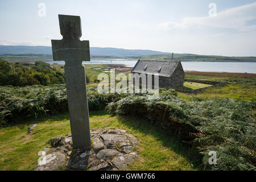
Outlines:
<svg viewBox="0 0 256 182"><path fill-rule="evenodd" d="M68 110L74 148L90 147L89 111L85 68L90 61L89 41L80 41L80 16L59 15L62 40L52 40L54 61L65 61Z"/></svg>

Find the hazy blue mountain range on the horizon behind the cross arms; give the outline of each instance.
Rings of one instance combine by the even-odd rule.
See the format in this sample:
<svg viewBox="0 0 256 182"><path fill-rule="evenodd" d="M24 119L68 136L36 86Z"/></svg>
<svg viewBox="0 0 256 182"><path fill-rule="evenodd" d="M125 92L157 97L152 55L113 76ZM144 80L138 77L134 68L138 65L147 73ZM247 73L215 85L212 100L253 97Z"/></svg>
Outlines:
<svg viewBox="0 0 256 182"><path fill-rule="evenodd" d="M49 46L0 46L0 55L23 55L23 54L42 54L52 55L52 47ZM90 47L90 56L143 56L143 55L162 55L168 52L159 52L142 49L121 49L110 47Z"/></svg>

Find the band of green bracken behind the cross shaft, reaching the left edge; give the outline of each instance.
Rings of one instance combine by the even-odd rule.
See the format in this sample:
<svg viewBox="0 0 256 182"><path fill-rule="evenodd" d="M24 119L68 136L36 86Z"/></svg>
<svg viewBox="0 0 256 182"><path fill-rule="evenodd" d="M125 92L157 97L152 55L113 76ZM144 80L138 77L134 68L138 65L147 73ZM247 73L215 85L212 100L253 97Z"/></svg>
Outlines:
<svg viewBox="0 0 256 182"><path fill-rule="evenodd" d="M121 98L118 94L99 94L97 87L88 87L89 110L102 110ZM0 86L0 126L63 111L68 111L64 84Z"/></svg>

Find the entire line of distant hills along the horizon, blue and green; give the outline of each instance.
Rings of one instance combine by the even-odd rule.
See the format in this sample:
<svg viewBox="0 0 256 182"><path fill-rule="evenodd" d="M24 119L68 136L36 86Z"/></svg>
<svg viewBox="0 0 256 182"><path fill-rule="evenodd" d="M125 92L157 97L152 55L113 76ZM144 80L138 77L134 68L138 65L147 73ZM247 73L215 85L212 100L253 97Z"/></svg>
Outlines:
<svg viewBox="0 0 256 182"><path fill-rule="evenodd" d="M91 59L152 59L171 60L171 53L142 49L119 49L90 47ZM9 61L52 60L49 46L0 46L0 58ZM219 61L219 62L256 62L256 57L205 56L189 53L174 54L174 60L181 61Z"/></svg>

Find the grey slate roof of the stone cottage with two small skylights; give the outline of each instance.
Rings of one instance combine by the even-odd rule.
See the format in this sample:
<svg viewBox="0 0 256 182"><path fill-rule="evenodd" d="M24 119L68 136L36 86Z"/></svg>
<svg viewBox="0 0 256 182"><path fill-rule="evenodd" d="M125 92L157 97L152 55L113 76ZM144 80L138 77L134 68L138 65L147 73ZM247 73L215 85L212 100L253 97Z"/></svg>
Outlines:
<svg viewBox="0 0 256 182"><path fill-rule="evenodd" d="M180 61L138 60L131 72L170 77Z"/></svg>

